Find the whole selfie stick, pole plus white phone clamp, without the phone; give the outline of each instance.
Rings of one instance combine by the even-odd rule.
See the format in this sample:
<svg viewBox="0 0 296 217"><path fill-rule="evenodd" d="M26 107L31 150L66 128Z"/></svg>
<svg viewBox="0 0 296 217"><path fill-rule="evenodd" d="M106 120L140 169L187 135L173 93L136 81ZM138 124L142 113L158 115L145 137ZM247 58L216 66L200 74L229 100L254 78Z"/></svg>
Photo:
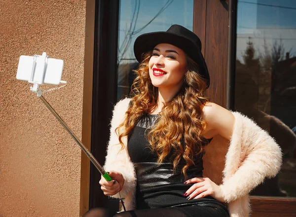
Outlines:
<svg viewBox="0 0 296 217"><path fill-rule="evenodd" d="M45 52L43 52L42 56L45 56L47 58L46 53L45 54L44 53ZM43 75L44 75L44 71L45 71L46 58L44 58ZM35 62L33 64L35 65ZM32 73L34 73L34 72L32 72ZM40 84L37 84L36 82L33 82L33 79L32 78L33 77L31 77L31 81L29 81L29 83L33 83L34 84L34 86L30 88L31 91L37 93L37 96L42 100L42 102L44 102L44 104L46 105L46 107L59 120L59 122L63 125L63 127L70 133L70 135L72 136L72 138L74 138L74 140L76 141L76 143L79 145L79 147L82 149L82 151L86 154L86 156L88 157L88 159L93 163L93 165L95 165L95 167L98 169L98 171L103 175L103 177L107 181L111 181L112 179L111 179L110 175L103 169L103 167L99 164L99 162L97 161L97 159L95 159L95 157L87 150L87 148L77 138L77 136L68 127L68 125L63 121L63 119L58 115L58 113L56 113L56 111L51 107L51 105L44 99L44 97L42 96L42 91L39 89L39 85ZM44 76L42 76L42 78L44 78ZM63 82L63 83L65 83L65 82Z"/></svg>

